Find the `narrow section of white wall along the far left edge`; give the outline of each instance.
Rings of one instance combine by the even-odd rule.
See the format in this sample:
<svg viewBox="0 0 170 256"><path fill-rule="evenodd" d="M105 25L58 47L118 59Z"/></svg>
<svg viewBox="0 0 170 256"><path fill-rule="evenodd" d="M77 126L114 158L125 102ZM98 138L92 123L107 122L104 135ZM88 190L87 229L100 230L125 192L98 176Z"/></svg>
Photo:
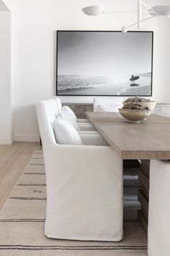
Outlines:
<svg viewBox="0 0 170 256"><path fill-rule="evenodd" d="M1 9L2 8L2 9ZM0 6L0 144L10 144L11 131L11 61L10 12Z"/></svg>

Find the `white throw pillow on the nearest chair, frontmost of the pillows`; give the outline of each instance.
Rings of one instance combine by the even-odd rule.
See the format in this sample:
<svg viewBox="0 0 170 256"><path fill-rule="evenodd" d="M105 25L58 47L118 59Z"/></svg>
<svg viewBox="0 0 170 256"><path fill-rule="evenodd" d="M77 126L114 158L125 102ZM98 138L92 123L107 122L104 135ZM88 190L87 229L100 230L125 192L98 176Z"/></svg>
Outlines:
<svg viewBox="0 0 170 256"><path fill-rule="evenodd" d="M55 118L54 121L55 139L58 144L66 145L82 145L82 140L79 133L73 125L61 116Z"/></svg>

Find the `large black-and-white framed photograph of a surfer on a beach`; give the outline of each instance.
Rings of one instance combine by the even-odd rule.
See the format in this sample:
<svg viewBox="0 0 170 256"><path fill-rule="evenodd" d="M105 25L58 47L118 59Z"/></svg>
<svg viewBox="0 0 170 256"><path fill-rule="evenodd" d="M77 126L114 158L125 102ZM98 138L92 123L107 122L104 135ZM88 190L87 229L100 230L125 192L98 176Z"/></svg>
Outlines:
<svg viewBox="0 0 170 256"><path fill-rule="evenodd" d="M57 31L57 95L152 95L153 32Z"/></svg>

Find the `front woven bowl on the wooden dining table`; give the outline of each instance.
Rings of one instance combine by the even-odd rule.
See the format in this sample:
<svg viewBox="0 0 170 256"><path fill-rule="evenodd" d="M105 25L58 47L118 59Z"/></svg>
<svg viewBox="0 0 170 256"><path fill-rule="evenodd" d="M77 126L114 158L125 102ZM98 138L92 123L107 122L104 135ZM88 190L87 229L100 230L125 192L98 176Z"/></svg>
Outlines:
<svg viewBox="0 0 170 256"><path fill-rule="evenodd" d="M125 109L119 108L120 114L125 117L128 121L139 122L142 120L146 120L148 116L151 115L152 111L141 111L141 110L133 110L133 109Z"/></svg>

